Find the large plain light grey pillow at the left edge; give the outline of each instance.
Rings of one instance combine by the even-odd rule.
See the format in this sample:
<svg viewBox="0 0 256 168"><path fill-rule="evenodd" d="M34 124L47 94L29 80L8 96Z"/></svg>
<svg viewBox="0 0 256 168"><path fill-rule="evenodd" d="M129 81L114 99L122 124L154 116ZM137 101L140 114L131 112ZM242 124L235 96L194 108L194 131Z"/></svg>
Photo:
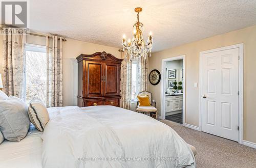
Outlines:
<svg viewBox="0 0 256 168"><path fill-rule="evenodd" d="M29 130L28 106L22 100L10 96L0 100L0 130L9 141L20 141Z"/></svg>

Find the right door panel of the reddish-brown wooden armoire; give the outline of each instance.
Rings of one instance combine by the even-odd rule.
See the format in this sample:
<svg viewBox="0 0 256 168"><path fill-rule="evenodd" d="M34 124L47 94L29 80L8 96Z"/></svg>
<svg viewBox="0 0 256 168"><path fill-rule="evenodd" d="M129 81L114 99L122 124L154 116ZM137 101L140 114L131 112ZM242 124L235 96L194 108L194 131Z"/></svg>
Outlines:
<svg viewBox="0 0 256 168"><path fill-rule="evenodd" d="M105 64L105 96L119 95L118 64Z"/></svg>

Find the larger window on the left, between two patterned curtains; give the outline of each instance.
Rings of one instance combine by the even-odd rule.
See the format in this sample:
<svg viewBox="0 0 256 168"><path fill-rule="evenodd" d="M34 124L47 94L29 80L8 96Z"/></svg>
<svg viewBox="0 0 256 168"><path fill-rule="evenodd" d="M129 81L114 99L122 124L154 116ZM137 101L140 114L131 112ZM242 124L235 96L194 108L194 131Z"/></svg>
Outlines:
<svg viewBox="0 0 256 168"><path fill-rule="evenodd" d="M46 46L26 44L25 47L25 99L37 97L46 103L47 54Z"/></svg>

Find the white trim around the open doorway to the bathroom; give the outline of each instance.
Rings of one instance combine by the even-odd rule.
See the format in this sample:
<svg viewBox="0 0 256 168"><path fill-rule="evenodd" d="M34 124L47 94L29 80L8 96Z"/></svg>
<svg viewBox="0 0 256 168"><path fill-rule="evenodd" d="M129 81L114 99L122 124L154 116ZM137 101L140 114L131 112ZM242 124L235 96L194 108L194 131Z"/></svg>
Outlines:
<svg viewBox="0 0 256 168"><path fill-rule="evenodd" d="M165 63L168 61L182 60L183 59L183 97L182 97L182 125L185 124L185 105L186 105L186 55L180 55L177 57L170 57L167 59L162 59L161 74L164 76L161 80L161 119L165 119Z"/></svg>

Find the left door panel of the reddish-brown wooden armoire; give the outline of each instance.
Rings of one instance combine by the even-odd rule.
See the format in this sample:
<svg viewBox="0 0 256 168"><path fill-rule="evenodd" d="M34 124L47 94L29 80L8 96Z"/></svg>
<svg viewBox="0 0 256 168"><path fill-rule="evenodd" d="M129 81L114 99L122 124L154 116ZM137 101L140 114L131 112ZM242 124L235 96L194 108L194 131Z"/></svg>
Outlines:
<svg viewBox="0 0 256 168"><path fill-rule="evenodd" d="M102 96L103 64L100 62L87 62L87 96Z"/></svg>

